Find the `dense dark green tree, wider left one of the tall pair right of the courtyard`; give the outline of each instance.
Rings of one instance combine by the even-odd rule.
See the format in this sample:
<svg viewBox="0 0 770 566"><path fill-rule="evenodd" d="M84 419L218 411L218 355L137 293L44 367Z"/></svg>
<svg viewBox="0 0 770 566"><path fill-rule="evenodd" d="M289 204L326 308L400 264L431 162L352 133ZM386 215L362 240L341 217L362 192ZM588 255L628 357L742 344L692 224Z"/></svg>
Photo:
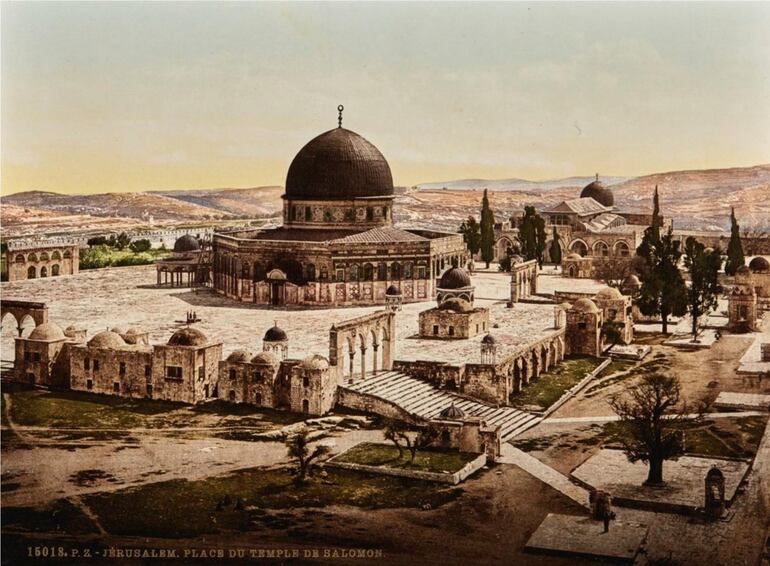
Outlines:
<svg viewBox="0 0 770 566"><path fill-rule="evenodd" d="M655 237L655 232L654 225L647 228L637 249L639 254L645 248L646 254L642 256L644 261L638 262L642 283L638 306L642 314L660 315L663 333L667 334L668 317L687 312L687 288L678 266L682 252L671 227L660 238Z"/></svg>

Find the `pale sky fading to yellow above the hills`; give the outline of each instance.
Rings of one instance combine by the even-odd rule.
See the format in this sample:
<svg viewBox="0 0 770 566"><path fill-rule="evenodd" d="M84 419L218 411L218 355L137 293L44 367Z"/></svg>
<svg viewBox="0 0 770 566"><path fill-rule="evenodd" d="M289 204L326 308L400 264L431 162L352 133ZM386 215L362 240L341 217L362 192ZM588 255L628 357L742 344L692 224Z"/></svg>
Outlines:
<svg viewBox="0 0 770 566"><path fill-rule="evenodd" d="M2 192L282 185L337 125L397 185L770 163L770 3L0 5Z"/></svg>

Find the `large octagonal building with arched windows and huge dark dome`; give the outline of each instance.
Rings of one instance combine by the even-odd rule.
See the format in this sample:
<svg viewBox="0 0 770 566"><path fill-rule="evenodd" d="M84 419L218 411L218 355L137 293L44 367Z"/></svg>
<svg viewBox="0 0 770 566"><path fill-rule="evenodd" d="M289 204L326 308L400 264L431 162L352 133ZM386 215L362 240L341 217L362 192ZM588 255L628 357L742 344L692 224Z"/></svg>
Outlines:
<svg viewBox="0 0 770 566"><path fill-rule="evenodd" d="M467 259L462 236L395 228L393 199L374 145L341 125L325 132L289 167L281 227L214 235L214 288L272 305L385 304L391 285L428 300L444 266Z"/></svg>

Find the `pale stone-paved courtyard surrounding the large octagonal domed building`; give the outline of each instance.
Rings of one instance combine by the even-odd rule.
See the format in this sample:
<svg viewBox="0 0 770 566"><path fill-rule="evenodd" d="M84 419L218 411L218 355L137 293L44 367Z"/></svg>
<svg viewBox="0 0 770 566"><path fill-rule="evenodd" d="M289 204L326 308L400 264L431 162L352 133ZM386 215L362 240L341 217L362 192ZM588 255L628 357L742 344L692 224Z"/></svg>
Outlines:
<svg viewBox="0 0 770 566"><path fill-rule="evenodd" d="M290 357L328 355L332 324L383 308L271 308L240 303L210 291L195 293L187 288L156 288L155 279L153 266L122 267L84 271L74 277L4 283L1 289L7 299L47 303L51 320L62 327L74 324L86 328L89 336L115 326L124 329L138 326L150 333L151 342L165 342L176 329L185 326L186 313L194 310L202 319L196 327L209 339L222 342L225 356L241 348L261 350L262 336L276 322L289 335ZM575 285L587 291L602 287L591 280L576 282L557 276L541 277L540 282L545 293L574 289ZM500 340L498 356L554 332L552 305L519 303L513 309L506 308L510 294L508 275L478 271L473 283L476 285L476 305L490 308L490 324L499 326L491 329ZM434 305L431 301L403 306L397 315L394 359L479 361L479 343L483 335L470 340L415 338L418 313ZM15 322L7 316L3 323L2 359L8 360L13 358ZM31 325L25 335L30 331Z"/></svg>

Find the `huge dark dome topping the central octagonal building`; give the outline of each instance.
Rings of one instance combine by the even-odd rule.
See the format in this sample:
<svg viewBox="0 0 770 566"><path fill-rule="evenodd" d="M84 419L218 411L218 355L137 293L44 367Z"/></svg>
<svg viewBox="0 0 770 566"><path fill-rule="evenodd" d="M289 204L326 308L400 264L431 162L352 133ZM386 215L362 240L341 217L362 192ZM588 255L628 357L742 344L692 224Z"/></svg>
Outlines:
<svg viewBox="0 0 770 566"><path fill-rule="evenodd" d="M286 175L286 198L393 196L390 166L376 147L345 128L329 130L299 150Z"/></svg>

